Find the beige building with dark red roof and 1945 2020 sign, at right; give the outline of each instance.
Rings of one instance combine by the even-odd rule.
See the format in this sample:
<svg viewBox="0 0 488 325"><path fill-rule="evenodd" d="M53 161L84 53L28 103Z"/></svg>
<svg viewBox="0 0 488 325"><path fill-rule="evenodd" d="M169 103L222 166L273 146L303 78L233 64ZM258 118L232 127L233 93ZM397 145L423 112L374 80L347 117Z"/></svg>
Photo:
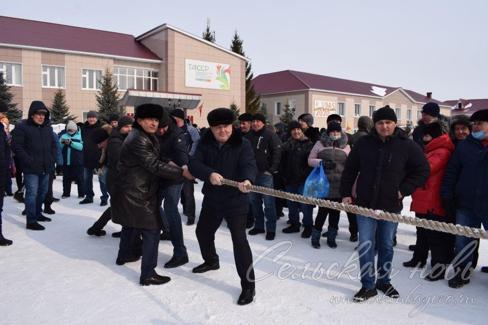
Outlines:
<svg viewBox="0 0 488 325"><path fill-rule="evenodd" d="M398 125L414 124L420 117L425 103L439 104L441 114L450 116L451 106L436 101L432 93L425 95L400 87L388 87L370 83L320 76L298 71L281 71L259 75L252 84L261 104L268 110L268 120L273 124L280 121L281 112L288 100L295 112L294 118L303 113L314 116L314 126L326 127L327 116L342 116L342 126L351 131L357 129L359 116L372 116L385 105L395 110Z"/></svg>

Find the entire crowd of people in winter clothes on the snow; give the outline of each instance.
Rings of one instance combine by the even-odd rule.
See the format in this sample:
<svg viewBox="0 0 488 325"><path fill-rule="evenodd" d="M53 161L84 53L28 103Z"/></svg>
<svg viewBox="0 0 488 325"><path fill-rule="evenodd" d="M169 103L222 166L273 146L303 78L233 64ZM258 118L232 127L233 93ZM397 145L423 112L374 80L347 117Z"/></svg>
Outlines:
<svg viewBox="0 0 488 325"><path fill-rule="evenodd" d="M0 117L7 110L0 102ZM419 218L472 228L488 226L484 200L488 194L488 110L449 120L440 115L436 103L427 103L411 138L396 125L398 120L389 106L377 110L373 118L361 116L353 135L343 131L342 117L337 114L327 117L327 127L321 131L313 127L311 114L298 116L285 130L282 123L268 127L266 117L259 113L241 114L234 127L234 115L226 108L210 111L209 127L198 130L185 120L183 110L168 113L155 104L137 107L134 119L112 115L110 124L102 123L96 111L89 111L82 125L69 121L57 135L49 126L49 114L43 102L34 101L27 119L16 123L10 134L6 134L8 127L0 125L2 207L4 195L13 196L25 205L26 229L45 230L39 222L51 219L43 213L54 214L51 204L59 200L52 195L55 165L62 166L62 199L71 196L75 183L83 205L94 203L96 171L100 205L108 208L86 233L104 236L103 228L110 220L120 224L121 231L112 234L120 237L116 264L136 262L142 256L141 285L170 281L155 271L160 240L170 240L173 245L173 256L165 268L189 262L178 203L188 218L186 224L193 225L195 178L204 182L196 226L204 262L193 272L220 268L214 240L225 219L241 280L237 300L241 305L255 297L247 234L275 240L277 220L286 207L288 225L281 230L283 234L301 232L313 248L321 248L324 238L333 249L340 220L339 210L319 207L314 218L314 206L250 192L250 184L302 194L311 171L320 165L329 183L324 198L329 201L400 213L403 199L412 196L411 211ZM14 174L15 194L11 189ZM223 185L222 178L237 181L238 188ZM327 216L327 230L323 231ZM361 289L354 299L365 301L376 296L377 290L399 297L390 282L398 223L381 220L376 214L347 213L347 218L349 239L359 244ZM11 244L2 235L0 219L0 245ZM416 243L409 247L412 259L404 266L425 266L431 251L431 270L425 280L444 279L452 264L456 273L448 284L459 288L470 281L478 245L479 240L465 236L417 228ZM488 271L486 267L481 270Z"/></svg>

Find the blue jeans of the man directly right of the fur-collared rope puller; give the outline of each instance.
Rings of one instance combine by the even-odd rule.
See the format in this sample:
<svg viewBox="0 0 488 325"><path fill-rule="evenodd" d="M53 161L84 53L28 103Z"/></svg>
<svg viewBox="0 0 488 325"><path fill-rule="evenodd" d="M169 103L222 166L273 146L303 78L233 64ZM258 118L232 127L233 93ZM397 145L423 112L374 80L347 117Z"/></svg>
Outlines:
<svg viewBox="0 0 488 325"><path fill-rule="evenodd" d="M266 188L273 188L273 176L261 174L256 177L256 186L262 186ZM251 192L249 193L249 201L253 207L254 226L258 229L264 229L264 217L266 216L266 231L276 231L276 208L275 197ZM264 211L263 211L264 202Z"/></svg>

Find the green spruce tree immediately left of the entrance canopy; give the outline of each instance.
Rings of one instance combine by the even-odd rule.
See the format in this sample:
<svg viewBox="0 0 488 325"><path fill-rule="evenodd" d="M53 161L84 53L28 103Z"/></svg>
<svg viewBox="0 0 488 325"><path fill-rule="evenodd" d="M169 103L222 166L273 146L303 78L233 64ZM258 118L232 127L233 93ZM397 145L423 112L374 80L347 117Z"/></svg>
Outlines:
<svg viewBox="0 0 488 325"><path fill-rule="evenodd" d="M113 83L113 72L110 67L105 67L100 79L100 90L95 95L98 106L98 119L102 123L109 123L112 114L125 115L125 109L118 106L118 87Z"/></svg>

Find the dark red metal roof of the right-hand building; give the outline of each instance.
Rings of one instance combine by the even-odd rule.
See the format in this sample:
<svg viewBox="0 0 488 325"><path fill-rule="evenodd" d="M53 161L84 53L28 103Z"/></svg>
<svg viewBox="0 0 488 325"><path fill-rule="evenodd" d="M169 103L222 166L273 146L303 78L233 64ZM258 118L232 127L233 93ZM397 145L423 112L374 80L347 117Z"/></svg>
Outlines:
<svg viewBox="0 0 488 325"><path fill-rule="evenodd" d="M360 82L348 79L334 78L322 75L316 75L307 72L285 70L259 75L252 80L254 90L257 94L280 93L296 90L320 89L324 91L351 93L356 95L376 96L384 98L393 91L401 89L400 87L382 86L367 82ZM373 92L375 88L383 88L384 95ZM382 89L378 89L382 90ZM439 105L446 105L443 102L436 101L426 95L419 94L412 90L402 89L415 102L428 103L435 102Z"/></svg>

